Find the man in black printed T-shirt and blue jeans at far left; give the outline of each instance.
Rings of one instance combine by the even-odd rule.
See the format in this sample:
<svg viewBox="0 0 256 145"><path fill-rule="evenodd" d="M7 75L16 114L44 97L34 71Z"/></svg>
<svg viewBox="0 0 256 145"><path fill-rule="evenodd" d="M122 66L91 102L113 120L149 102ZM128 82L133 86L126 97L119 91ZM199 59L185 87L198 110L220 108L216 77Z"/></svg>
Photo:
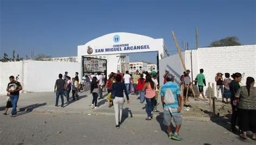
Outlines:
<svg viewBox="0 0 256 145"><path fill-rule="evenodd" d="M19 100L19 91L22 90L22 86L21 86L21 83L15 80L13 75L11 75L9 79L10 79L10 82L6 88L6 91L10 93L10 99L12 104L11 116L14 116L17 114L16 108Z"/></svg>

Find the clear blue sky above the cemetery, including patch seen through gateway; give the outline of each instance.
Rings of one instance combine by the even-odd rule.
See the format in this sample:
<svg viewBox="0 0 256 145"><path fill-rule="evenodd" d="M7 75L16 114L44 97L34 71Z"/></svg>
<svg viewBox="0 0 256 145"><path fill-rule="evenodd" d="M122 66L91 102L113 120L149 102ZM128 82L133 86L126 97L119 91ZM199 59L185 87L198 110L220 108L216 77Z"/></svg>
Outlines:
<svg viewBox="0 0 256 145"><path fill-rule="evenodd" d="M15 50L20 56L43 53L77 56L77 46L112 32L131 32L164 38L169 51L178 42L199 47L237 36L244 45L256 44L255 1L12 1L0 0L0 57ZM130 61L156 62L156 52L136 53ZM152 56L152 57L149 57Z"/></svg>

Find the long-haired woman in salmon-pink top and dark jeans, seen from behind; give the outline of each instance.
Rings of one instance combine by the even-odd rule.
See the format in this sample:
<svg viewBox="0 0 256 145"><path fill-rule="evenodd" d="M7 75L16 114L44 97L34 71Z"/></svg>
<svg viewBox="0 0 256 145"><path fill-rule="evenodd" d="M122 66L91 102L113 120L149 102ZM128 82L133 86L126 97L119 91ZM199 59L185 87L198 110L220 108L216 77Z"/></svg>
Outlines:
<svg viewBox="0 0 256 145"><path fill-rule="evenodd" d="M145 85L142 89L142 91L145 91L145 98L147 102L147 118L146 120L151 120L153 118L152 112L153 112L153 101L156 97L156 84L151 79L151 76L149 74L146 75L146 81Z"/></svg>

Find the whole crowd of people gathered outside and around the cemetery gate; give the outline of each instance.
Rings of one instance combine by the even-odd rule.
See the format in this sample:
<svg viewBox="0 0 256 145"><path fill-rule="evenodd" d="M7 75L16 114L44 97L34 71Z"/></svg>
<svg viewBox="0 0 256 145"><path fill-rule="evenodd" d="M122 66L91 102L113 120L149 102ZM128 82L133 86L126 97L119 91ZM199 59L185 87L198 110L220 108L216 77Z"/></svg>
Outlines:
<svg viewBox="0 0 256 145"><path fill-rule="evenodd" d="M164 74L164 85L159 86L157 72L144 72L139 73L136 71L134 74L130 74L126 71L125 74L111 72L108 75L108 79L98 72L97 75L85 75L82 78L82 82L79 83L78 72L75 73L75 77L71 78L68 72L58 75L55 82L54 92L56 93L55 106L58 107L59 96L61 99L60 107L64 107L64 96L66 96L66 103L70 103L70 92L72 90L72 99L79 100L78 92L80 89L90 90L92 94L91 108L96 109L98 107L97 100L103 99L103 92L107 91L109 94L107 99L109 100L109 107L114 107L114 114L116 120L116 128L119 128L122 123L122 111L125 102L124 93L127 103L130 103L129 94L133 93L138 95L140 103L146 100L146 113L145 120L150 121L153 119L152 112L159 112L158 95L161 97L161 103L164 110L164 125L166 126L168 137L173 140L181 141L179 136L179 130L181 128L182 115L181 115L181 92L184 92L185 96L190 90L195 100L199 100L199 95L203 96L204 100L207 100L204 95L204 86L206 86L204 70L200 69L200 73L195 80L191 80L189 74L190 70L186 70L180 77L181 84L174 82L174 76L166 71ZM230 103L232 106L232 118L231 118L231 130L232 132L240 132L242 139L247 138L246 132L251 130L253 132L252 139L256 140L256 88L254 87L254 78L247 77L246 86L242 86L240 81L242 75L240 73L234 73L231 75L233 80L230 79L230 74L225 73L225 79L223 79L223 73L218 72L215 77L217 98L220 98L221 93L222 102ZM6 91L9 98L6 99L5 115L8 108L12 107L11 116L17 114L16 107L19 98L19 91L22 90L21 83L15 80L14 76L9 77L10 82ZM193 85L193 82L195 85ZM181 91L180 86L184 88ZM198 90L194 90L194 87ZM181 88L182 88L181 87ZM197 94L195 93L196 91ZM224 98L226 101L224 101ZM187 98L185 102L187 102ZM174 132L171 129L171 120L174 121L176 127ZM237 126L238 120L238 128Z"/></svg>

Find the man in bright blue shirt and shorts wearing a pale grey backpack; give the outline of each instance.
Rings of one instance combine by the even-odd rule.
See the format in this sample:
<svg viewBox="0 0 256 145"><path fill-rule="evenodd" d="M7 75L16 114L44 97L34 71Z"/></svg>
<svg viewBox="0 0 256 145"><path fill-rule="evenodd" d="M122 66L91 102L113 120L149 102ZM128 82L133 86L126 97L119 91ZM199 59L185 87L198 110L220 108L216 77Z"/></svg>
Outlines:
<svg viewBox="0 0 256 145"><path fill-rule="evenodd" d="M164 125L167 127L169 139L181 141L179 136L179 130L181 127L182 116L181 116L181 96L179 85L174 83L174 77L172 74L166 75L166 84L161 86L161 102L164 107ZM175 132L171 130L171 120L173 119L176 127Z"/></svg>

